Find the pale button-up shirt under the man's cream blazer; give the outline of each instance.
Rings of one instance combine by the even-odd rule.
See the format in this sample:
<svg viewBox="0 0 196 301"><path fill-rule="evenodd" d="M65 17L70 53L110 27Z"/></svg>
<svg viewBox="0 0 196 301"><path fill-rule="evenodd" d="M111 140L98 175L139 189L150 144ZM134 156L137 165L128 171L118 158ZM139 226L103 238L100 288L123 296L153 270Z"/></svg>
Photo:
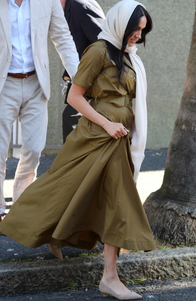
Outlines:
<svg viewBox="0 0 196 301"><path fill-rule="evenodd" d="M19 7L14 0L8 0L12 57L10 73L27 73L35 70L30 31L30 0L23 0Z"/></svg>

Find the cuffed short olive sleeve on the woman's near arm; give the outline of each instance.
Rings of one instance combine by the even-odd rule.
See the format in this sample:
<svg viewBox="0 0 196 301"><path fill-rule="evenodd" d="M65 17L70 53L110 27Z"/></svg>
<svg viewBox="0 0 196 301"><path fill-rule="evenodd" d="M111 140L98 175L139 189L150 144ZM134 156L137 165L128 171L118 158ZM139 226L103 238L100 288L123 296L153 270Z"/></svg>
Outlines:
<svg viewBox="0 0 196 301"><path fill-rule="evenodd" d="M93 84L94 79L101 73L104 64L103 43L95 42L82 54L77 73L74 76L73 83L88 90Z"/></svg>

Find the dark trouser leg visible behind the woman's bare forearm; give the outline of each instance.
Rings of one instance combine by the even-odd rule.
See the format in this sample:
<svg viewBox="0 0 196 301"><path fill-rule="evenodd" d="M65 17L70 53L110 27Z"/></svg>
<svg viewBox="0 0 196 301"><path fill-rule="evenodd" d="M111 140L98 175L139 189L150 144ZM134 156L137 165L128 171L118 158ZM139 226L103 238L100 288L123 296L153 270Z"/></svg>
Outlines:
<svg viewBox="0 0 196 301"><path fill-rule="evenodd" d="M63 111L63 143L66 141L66 137L71 133L71 131L77 126L78 120L81 115L77 115L78 111L76 111L70 104L67 104L65 110Z"/></svg>

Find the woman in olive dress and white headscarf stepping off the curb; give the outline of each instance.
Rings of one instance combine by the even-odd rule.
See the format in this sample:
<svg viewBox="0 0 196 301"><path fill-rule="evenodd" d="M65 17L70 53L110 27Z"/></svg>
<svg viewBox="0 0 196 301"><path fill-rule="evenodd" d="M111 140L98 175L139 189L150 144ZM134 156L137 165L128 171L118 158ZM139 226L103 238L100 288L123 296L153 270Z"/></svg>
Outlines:
<svg viewBox="0 0 196 301"><path fill-rule="evenodd" d="M100 241L105 257L100 291L120 300L141 298L119 280L120 248L156 249L136 189L147 133L146 76L136 44L145 45L151 29L139 2L124 0L108 12L68 95L68 103L83 114L78 126L50 169L0 223L0 231L24 246L49 244L59 259L60 247L93 249Z"/></svg>

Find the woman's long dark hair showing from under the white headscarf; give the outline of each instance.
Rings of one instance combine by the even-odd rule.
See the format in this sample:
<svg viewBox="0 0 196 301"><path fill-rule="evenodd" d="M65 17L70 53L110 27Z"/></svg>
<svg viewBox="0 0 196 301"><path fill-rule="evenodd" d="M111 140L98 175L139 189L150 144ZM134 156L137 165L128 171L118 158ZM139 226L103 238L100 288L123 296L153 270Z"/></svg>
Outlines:
<svg viewBox="0 0 196 301"><path fill-rule="evenodd" d="M153 29L153 22L152 22L152 19L151 19L149 13L147 12L147 10L141 5L136 6L136 8L134 9L134 11L128 21L128 24L127 24L127 27L125 29L125 33L123 36L123 40L122 40L122 48L119 50L114 45L112 45L110 42L106 41L109 58L112 59L113 61L115 61L115 64L118 68L116 77L119 79L119 83L121 85L123 85L121 82L122 75L126 71L125 66L130 68L123 60L124 55L125 55L125 48L128 44L128 38L130 36L133 36L134 33L137 31L141 17L143 17L143 16L146 16L146 19L147 19L146 27L144 29L142 29L141 39L139 39L136 43L137 44L144 43L144 47L145 47L146 35Z"/></svg>

